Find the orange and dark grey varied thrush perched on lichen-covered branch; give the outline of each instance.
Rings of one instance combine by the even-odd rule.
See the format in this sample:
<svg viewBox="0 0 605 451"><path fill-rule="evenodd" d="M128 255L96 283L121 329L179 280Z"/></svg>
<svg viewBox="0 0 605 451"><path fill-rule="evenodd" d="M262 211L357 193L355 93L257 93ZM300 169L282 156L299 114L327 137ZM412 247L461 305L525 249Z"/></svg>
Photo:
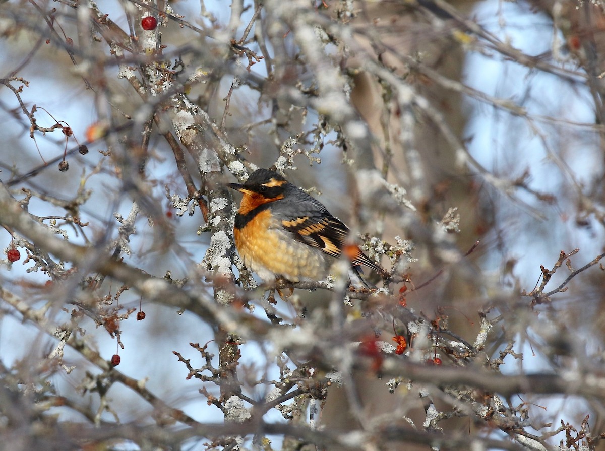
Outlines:
<svg viewBox="0 0 605 451"><path fill-rule="evenodd" d="M235 215L235 247L263 282L321 281L344 255L359 275L363 264L384 279L387 271L350 243L350 230L328 209L277 172L257 169L244 184Z"/></svg>

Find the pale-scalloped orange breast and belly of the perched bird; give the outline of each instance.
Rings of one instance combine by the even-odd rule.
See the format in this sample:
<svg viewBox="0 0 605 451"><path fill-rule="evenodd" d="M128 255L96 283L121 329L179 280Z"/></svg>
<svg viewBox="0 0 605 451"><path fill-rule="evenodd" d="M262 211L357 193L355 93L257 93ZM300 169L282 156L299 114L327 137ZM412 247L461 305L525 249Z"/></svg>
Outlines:
<svg viewBox="0 0 605 451"><path fill-rule="evenodd" d="M276 277L289 281L317 281L327 275L329 257L319 249L296 241L271 217L270 210L260 212L241 229L234 229L235 246L244 264L263 281Z"/></svg>

